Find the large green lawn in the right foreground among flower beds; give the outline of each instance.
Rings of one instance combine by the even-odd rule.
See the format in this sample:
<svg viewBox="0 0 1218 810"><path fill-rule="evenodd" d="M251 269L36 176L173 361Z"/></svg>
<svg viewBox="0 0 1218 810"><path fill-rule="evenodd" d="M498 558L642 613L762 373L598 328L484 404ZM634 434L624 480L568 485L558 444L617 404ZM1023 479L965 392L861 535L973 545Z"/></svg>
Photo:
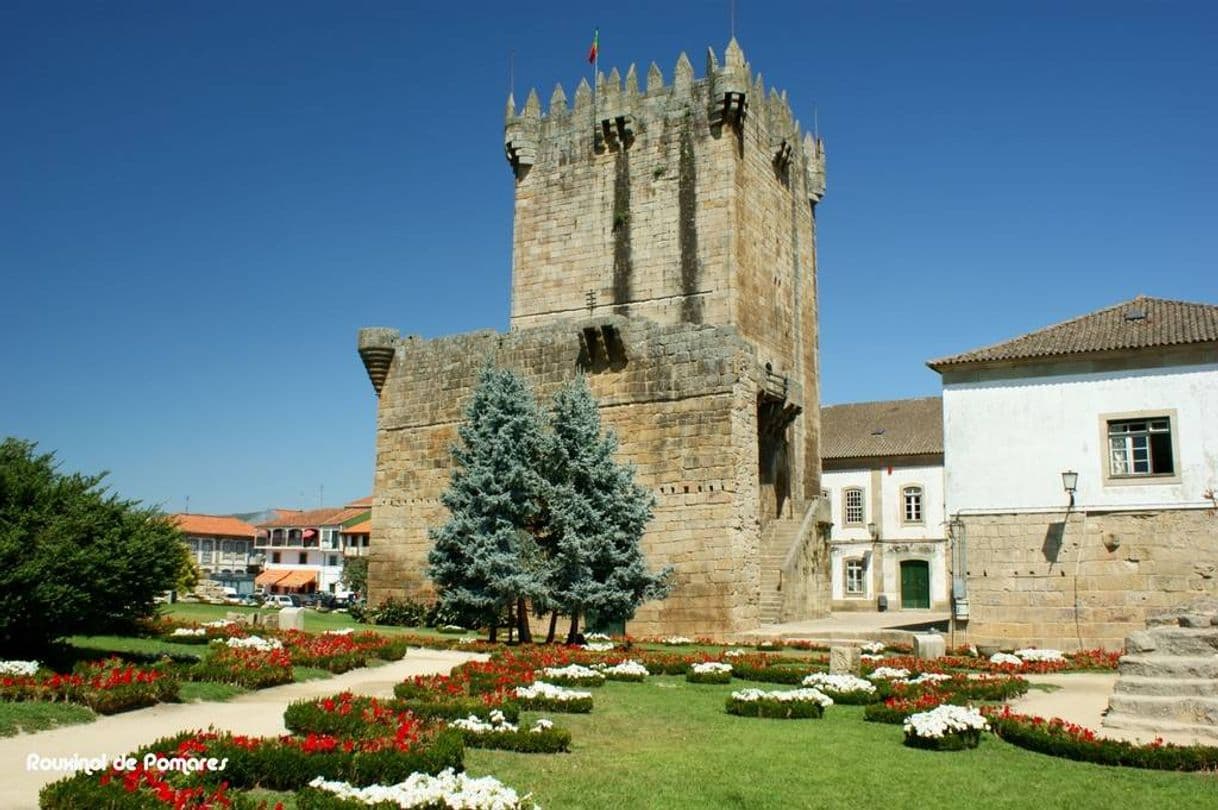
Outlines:
<svg viewBox="0 0 1218 810"><path fill-rule="evenodd" d="M571 730L570 754L468 749L465 766L544 808L1197 808L1218 791L1213 775L1073 762L993 736L972 752L911 749L861 706L831 706L823 720L737 717L723 711L737 688L609 682L592 714L551 715Z"/></svg>

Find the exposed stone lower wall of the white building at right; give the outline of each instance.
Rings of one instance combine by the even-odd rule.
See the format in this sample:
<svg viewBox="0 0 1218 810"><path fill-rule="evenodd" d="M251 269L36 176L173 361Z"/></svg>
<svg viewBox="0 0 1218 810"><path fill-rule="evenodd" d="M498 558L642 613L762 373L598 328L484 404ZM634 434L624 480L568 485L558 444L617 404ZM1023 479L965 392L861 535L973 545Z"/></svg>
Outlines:
<svg viewBox="0 0 1218 810"><path fill-rule="evenodd" d="M1207 510L1063 518L962 516L971 619L957 636L1121 649L1149 615L1218 594L1218 518Z"/></svg>

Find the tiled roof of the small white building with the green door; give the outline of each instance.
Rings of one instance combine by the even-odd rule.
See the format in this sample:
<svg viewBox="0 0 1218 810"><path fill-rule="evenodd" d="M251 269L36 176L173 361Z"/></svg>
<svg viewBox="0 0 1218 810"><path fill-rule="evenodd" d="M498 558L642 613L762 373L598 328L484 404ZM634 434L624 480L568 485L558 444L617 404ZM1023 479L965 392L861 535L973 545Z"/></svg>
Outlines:
<svg viewBox="0 0 1218 810"><path fill-rule="evenodd" d="M943 452L943 400L889 400L821 408L821 457Z"/></svg>

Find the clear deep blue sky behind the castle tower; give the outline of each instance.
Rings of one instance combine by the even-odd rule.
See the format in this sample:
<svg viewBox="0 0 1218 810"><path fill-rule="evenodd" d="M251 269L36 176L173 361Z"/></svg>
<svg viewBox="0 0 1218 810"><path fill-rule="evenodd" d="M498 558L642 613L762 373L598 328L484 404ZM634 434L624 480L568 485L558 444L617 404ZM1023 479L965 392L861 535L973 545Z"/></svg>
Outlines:
<svg viewBox="0 0 1218 810"><path fill-rule="evenodd" d="M826 403L1136 294L1218 301L1218 4L737 0L818 110ZM371 490L356 330L503 329L518 99L728 0L0 4L0 435L194 512Z"/></svg>

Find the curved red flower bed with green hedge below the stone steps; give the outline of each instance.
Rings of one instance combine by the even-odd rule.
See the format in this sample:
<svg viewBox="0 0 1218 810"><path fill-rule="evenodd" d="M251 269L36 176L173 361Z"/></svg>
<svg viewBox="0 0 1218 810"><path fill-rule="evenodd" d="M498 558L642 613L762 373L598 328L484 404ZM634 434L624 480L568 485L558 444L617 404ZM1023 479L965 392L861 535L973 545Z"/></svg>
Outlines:
<svg viewBox="0 0 1218 810"><path fill-rule="evenodd" d="M1161 771L1213 771L1218 769L1218 748L1212 745L1174 745L1156 739L1138 744L1097 737L1090 728L1058 717L1045 720L1015 714L1010 706L987 711L994 733L1019 748L1097 765L1121 765Z"/></svg>

